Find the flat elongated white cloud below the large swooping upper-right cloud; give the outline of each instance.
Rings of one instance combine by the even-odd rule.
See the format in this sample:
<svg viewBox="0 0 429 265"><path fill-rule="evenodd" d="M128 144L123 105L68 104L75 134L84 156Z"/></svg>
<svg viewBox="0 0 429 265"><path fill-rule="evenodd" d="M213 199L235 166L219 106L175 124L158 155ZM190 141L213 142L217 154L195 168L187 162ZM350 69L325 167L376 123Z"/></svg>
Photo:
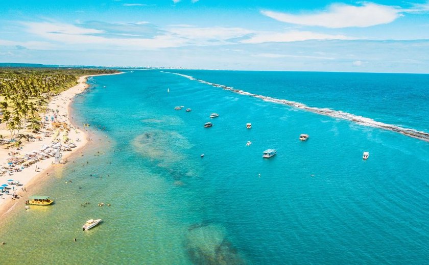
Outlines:
<svg viewBox="0 0 429 265"><path fill-rule="evenodd" d="M242 43L264 43L264 42L292 42L304 40L352 40L344 35L329 35L310 31L290 31L285 33L261 32Z"/></svg>

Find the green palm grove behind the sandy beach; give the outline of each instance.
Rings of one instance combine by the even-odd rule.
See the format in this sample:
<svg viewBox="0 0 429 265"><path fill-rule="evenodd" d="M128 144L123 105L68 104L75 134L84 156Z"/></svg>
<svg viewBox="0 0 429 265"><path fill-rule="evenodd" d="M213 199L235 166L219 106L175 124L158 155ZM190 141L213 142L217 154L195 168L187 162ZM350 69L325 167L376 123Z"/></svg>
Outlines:
<svg viewBox="0 0 429 265"><path fill-rule="evenodd" d="M75 86L82 75L115 73L112 69L0 68L0 124L14 138L21 129L37 132L51 97ZM2 136L3 138L3 136Z"/></svg>

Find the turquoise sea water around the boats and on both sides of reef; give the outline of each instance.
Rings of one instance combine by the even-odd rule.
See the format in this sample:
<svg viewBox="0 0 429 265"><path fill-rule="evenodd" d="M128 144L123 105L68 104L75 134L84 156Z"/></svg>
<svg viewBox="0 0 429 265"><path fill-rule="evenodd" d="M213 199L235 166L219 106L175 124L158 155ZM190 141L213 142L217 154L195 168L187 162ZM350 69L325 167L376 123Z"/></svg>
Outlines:
<svg viewBox="0 0 429 265"><path fill-rule="evenodd" d="M427 75L170 71L429 127ZM426 263L429 143L157 70L89 83L74 107L91 145L32 191L55 205L16 207L1 228L5 262ZM264 160L268 148L278 154ZM82 232L90 218L103 223Z"/></svg>

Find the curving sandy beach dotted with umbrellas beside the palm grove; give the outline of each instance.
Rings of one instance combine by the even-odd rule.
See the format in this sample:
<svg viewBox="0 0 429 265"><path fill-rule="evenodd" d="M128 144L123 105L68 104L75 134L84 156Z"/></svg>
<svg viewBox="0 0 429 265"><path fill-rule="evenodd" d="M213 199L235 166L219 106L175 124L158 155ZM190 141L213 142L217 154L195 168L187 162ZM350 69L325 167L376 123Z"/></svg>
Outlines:
<svg viewBox="0 0 429 265"><path fill-rule="evenodd" d="M8 165L10 157L31 157L32 154L46 152L44 150L49 150L49 148L53 149L55 143L57 145L60 143L62 149L68 150L61 152L62 161L66 161L72 154L81 151L88 142L83 124L73 123L73 117L70 113L70 102L75 95L82 93L88 88L89 85L86 83L86 80L90 76L96 75L79 77L76 86L52 98L47 105L46 113L42 115L45 125L41 130L39 139L34 139L31 142L27 141L21 148L11 147L9 149L0 149L0 167L5 171L0 176L0 184L8 184L7 188L10 188L8 189L9 194L2 193L0 195L0 219L3 219L17 204L22 205L23 208L28 196L34 195L31 193L31 189L37 186L38 180L49 174L50 169L53 167L63 167L63 165L52 165L55 160L55 157L52 157L52 155L50 157L46 156L43 160L39 160L31 165L23 163L14 167ZM61 126L58 126L59 124ZM7 135L6 131L3 133ZM15 170L11 170L12 168ZM8 171L6 171L7 169ZM8 181L10 179L13 179L13 181ZM19 186L16 183L19 183ZM12 195L14 193L17 195L17 199L13 198Z"/></svg>

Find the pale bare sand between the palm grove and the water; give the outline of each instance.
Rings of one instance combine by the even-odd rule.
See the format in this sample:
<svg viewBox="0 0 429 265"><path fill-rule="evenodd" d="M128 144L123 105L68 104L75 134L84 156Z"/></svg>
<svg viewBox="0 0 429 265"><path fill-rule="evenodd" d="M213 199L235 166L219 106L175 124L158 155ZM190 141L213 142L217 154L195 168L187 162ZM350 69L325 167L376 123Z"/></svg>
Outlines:
<svg viewBox="0 0 429 265"><path fill-rule="evenodd" d="M103 74L101 74L103 75ZM74 142L76 144L76 148L73 148L72 151L68 152L62 152L62 159L65 160L67 157L69 157L72 153L75 153L76 151L80 150L85 144L87 143L87 135L84 133L83 130L74 127L71 124L70 119L70 113L69 113L69 104L71 102L71 98L73 98L75 95L82 93L87 87L88 84L86 84L86 78L89 76L95 76L95 75L86 75L79 77L78 85L69 88L66 91L61 92L60 94L53 97L51 102L47 105L47 112L42 116L42 119L44 121L44 117L49 117L49 120L51 120L51 116L55 114L57 115L56 121L57 122L65 122L70 127L70 131L68 133L68 138L70 142ZM58 110L58 112L57 112ZM45 121L46 122L46 121ZM83 124L79 125L79 127L83 128ZM47 128L52 128L51 121L49 121L49 125L47 125ZM46 128L44 128L42 131L46 131ZM26 142L21 150L16 150L16 148L9 148L9 149L3 149L0 148L0 167L7 166L7 159L10 157L8 155L11 151L18 151L21 155L24 155L27 152L31 152L33 150L40 150L42 145L51 145L54 141L54 135L55 131L53 130L53 134L50 137L42 137L40 140L35 140L35 142ZM62 140L63 135L65 134L65 131L60 132L59 138ZM4 133L4 136L7 134ZM41 134L43 136L43 134ZM77 141L77 139L80 139L80 141ZM21 140L23 141L23 140ZM28 191L30 189L29 186L33 186L34 184L37 184L37 179L41 176L45 176L46 172L51 167L62 167L62 165L52 165L52 162L54 161L54 157L47 158L45 160L41 160L28 168L24 168L22 171L14 172L12 175L9 175L6 173L5 175L0 177L0 185L1 184L7 184L8 179L13 179L14 183L19 181L19 183L23 184L23 186L15 186L15 185L9 185L8 188L11 188L9 190L10 195L3 194L0 196L0 219L9 213L10 209L16 204L16 202L19 202L20 204L24 204L25 201L22 197L26 198L28 197L29 193L31 192L23 192L21 188L26 188ZM36 166L39 168L36 171ZM20 166L19 166L20 167ZM14 188L14 190L13 190ZM21 198L18 200L12 200L12 194L16 192Z"/></svg>

